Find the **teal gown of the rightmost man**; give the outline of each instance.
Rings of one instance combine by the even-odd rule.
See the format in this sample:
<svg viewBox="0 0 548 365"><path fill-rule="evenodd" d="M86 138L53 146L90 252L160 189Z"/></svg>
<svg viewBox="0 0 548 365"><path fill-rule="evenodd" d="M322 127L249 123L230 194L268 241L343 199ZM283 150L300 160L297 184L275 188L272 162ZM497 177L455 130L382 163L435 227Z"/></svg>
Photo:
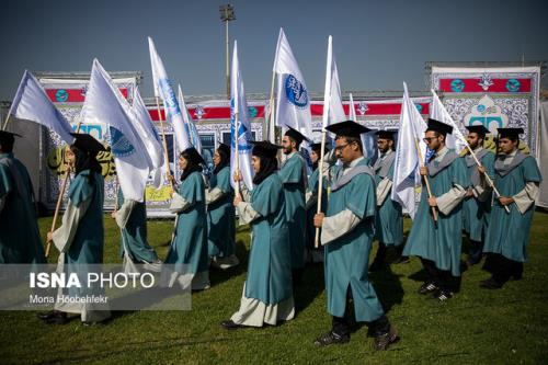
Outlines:
<svg viewBox="0 0 548 365"><path fill-rule="evenodd" d="M502 196L510 197L524 190L527 182L541 181L537 161L533 156L527 156L505 175L495 171L494 185ZM510 214L504 210L499 199L494 199L483 252L500 253L510 260L525 262L535 204L524 214L520 213L515 204L510 204L509 208Z"/></svg>

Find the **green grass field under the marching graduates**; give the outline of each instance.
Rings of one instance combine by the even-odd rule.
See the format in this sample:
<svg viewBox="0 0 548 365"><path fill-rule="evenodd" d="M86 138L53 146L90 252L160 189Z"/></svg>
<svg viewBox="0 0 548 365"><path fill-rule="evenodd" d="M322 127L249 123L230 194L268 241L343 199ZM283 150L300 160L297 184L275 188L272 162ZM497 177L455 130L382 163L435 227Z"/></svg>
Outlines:
<svg viewBox="0 0 548 365"><path fill-rule="evenodd" d="M52 218L41 219L43 237L50 224ZM152 220L148 228L150 243L163 258L172 224ZM105 232L105 262L119 262L119 233L106 216ZM386 352L373 350L365 326L356 328L347 344L313 346L313 339L331 326L321 265L308 266L305 283L295 293L293 321L263 329L222 329L219 322L238 309L246 280L249 230L240 228L237 238L240 266L212 271L212 288L193 294L191 311L114 312L106 324L91 327L79 319L55 326L42 323L30 311L0 312L0 364L548 363L546 213L535 214L524 278L501 290L479 288L488 277L479 265L464 273L460 293L448 303L416 294L423 277L416 259L372 275L401 335Z"/></svg>

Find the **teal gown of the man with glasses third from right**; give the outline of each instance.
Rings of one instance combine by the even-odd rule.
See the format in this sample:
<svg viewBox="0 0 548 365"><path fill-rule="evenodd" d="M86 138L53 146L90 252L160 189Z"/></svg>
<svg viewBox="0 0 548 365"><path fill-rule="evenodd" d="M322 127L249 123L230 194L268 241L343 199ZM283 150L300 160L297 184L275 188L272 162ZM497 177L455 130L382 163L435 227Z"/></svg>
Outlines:
<svg viewBox="0 0 548 365"><path fill-rule="evenodd" d="M453 150L447 153L455 153ZM437 161L429 163L429 181L432 194L436 197L447 193L454 184L466 189L469 185L466 164L461 158L456 158L449 166L433 175L432 168L438 167ZM463 203L458 204L447 216L437 210L437 225L432 218L429 205L429 194L423 186L421 202L414 217L413 226L403 249L403 255L415 255L434 261L439 270L460 275L460 249L463 232Z"/></svg>

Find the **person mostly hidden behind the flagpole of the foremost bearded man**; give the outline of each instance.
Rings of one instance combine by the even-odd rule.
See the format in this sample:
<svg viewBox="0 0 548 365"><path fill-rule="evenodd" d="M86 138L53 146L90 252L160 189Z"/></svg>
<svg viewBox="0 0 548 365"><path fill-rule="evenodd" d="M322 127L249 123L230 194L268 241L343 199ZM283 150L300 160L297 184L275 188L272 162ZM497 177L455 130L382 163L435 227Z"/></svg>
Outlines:
<svg viewBox="0 0 548 365"><path fill-rule="evenodd" d="M323 248L315 247L316 240L316 227L313 225L313 216L318 212L318 190L320 187L320 155L321 155L321 144L310 145L311 153L310 159L312 160L312 173L308 178L308 189L306 192L306 216L307 216L307 251L308 261L310 262L323 262ZM328 189L329 179L328 173L331 167L330 161L326 158L328 156L329 148L326 147L324 150L324 161L323 161L323 173L322 175L322 186L321 186L321 212L326 212L328 208Z"/></svg>

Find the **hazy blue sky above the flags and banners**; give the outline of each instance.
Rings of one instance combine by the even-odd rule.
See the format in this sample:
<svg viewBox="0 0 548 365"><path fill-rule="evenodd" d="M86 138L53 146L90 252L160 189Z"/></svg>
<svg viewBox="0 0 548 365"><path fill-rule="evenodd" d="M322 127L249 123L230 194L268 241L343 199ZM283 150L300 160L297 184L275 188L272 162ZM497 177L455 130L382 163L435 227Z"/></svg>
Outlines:
<svg viewBox="0 0 548 365"><path fill-rule="evenodd" d="M185 94L225 92L224 1L2 1L0 100L11 100L25 68L140 70L151 96L150 35ZM279 27L310 91L324 82L333 36L343 90L424 90L424 62L548 60L548 1L232 1L247 92L269 92ZM546 85L548 78L543 83Z"/></svg>

